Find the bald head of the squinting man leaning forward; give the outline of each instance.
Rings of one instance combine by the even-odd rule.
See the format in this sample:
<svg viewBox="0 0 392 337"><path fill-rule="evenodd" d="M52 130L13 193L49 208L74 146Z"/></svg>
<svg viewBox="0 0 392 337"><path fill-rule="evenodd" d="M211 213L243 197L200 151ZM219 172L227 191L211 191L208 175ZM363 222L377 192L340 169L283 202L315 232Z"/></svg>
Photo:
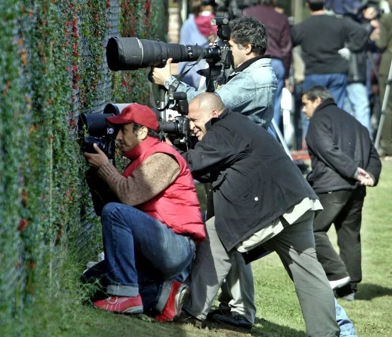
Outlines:
<svg viewBox="0 0 392 337"><path fill-rule="evenodd" d="M197 95L189 103L190 127L198 140L201 140L207 132L205 124L211 118L219 117L223 110L224 105L221 98L208 92Z"/></svg>

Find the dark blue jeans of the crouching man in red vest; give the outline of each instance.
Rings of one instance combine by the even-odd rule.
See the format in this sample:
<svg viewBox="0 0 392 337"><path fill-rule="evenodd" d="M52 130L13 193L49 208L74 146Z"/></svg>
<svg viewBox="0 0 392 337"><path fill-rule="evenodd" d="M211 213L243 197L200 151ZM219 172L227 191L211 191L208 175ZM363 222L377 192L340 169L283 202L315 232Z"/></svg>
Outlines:
<svg viewBox="0 0 392 337"><path fill-rule="evenodd" d="M140 293L142 298L151 297L152 292L158 297L156 308L163 309L172 280L181 282L188 276L195 256L194 240L120 203L106 204L101 221L107 292L118 296Z"/></svg>

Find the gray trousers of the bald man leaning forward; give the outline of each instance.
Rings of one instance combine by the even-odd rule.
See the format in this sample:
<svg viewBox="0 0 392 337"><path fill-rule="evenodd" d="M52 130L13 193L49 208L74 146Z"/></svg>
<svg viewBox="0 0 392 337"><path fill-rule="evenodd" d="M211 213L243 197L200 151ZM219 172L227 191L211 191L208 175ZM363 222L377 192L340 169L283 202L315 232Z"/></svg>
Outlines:
<svg viewBox="0 0 392 337"><path fill-rule="evenodd" d="M336 323L333 292L316 258L313 219L314 212L306 212L297 222L285 227L281 233L265 242L263 246L276 251L294 281L306 325L306 334L312 337L339 336L340 329ZM232 265L242 259L236 250L227 252L224 249L215 230L214 218L206 222L206 229L207 239L197 247L196 251L196 260L191 273L191 295L184 305L186 311L199 319L205 319ZM248 291L249 288L246 290ZM253 285L250 290L253 290ZM242 298L246 297L253 300L253 294L242 296ZM247 306L247 303L243 303L244 309L241 310L236 306L236 311L246 318L251 317L251 312L246 311L249 311L249 308L253 308L250 311L254 310L254 304Z"/></svg>

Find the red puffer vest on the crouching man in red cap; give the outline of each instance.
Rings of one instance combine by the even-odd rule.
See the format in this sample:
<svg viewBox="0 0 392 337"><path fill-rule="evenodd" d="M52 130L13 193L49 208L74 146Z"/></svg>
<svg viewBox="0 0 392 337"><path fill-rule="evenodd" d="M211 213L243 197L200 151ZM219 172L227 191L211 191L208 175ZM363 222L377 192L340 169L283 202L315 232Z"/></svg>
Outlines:
<svg viewBox="0 0 392 337"><path fill-rule="evenodd" d="M187 162L177 151L154 137L148 137L124 154L132 162L125 168L123 176L132 175L148 156L157 152L173 156L180 166L180 173L164 191L135 207L161 221L174 233L189 235L199 243L205 238L205 229L195 184Z"/></svg>

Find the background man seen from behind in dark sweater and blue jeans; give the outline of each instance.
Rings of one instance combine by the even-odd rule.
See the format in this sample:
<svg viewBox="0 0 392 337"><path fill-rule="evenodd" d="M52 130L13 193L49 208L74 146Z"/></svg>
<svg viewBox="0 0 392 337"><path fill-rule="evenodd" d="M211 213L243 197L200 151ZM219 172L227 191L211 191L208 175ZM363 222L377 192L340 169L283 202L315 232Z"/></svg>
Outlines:
<svg viewBox="0 0 392 337"><path fill-rule="evenodd" d="M300 45L305 62L303 89L325 86L336 104L343 108L349 52L365 46L366 30L350 19L327 15L323 0L307 0L311 17L293 26L293 45Z"/></svg>

